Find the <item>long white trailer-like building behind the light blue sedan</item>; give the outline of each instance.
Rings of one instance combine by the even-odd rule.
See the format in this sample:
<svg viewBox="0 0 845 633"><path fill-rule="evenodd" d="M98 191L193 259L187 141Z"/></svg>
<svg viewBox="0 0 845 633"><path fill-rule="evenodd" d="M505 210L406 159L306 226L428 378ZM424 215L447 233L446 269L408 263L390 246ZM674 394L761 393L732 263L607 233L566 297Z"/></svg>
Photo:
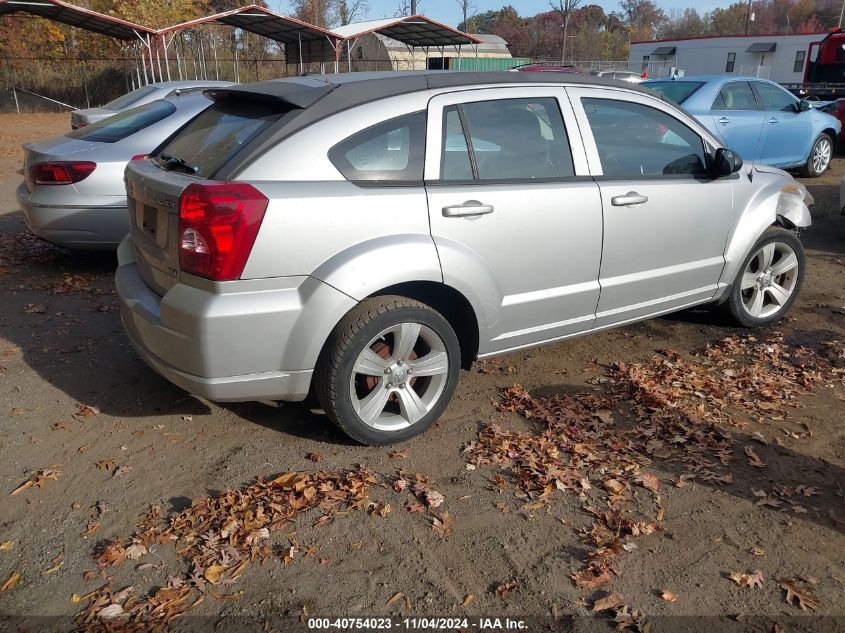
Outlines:
<svg viewBox="0 0 845 633"><path fill-rule="evenodd" d="M804 80L810 45L827 33L724 35L631 42L628 66L665 77L672 68L686 75L750 75L779 83ZM814 49L817 50L817 49Z"/></svg>

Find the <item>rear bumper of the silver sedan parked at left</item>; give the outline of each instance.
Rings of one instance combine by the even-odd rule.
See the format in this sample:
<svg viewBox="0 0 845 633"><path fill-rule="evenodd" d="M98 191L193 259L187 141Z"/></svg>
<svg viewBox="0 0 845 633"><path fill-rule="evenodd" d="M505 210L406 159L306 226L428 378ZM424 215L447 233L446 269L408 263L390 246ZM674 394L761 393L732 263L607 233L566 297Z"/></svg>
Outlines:
<svg viewBox="0 0 845 633"><path fill-rule="evenodd" d="M79 198L70 193L68 198ZM101 204L40 204L25 185L17 190L27 228L38 237L79 250L114 250L129 232L126 199L103 196Z"/></svg>

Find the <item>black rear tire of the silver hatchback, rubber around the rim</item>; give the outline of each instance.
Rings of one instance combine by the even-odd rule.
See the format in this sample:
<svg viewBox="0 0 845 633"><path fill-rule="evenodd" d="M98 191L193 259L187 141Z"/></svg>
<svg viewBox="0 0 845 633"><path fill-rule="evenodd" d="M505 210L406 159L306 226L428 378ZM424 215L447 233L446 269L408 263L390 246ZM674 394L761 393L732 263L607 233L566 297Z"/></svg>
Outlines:
<svg viewBox="0 0 845 633"><path fill-rule="evenodd" d="M353 380L358 380L353 376L356 373L353 372L353 368L359 355L375 337L386 329L402 323L420 324L439 337L448 359L447 371L442 374L442 378L438 379L442 391L439 391L439 396L436 396L431 403L431 409L426 415L402 429L377 429L367 424L353 406L353 396L358 397L357 393L352 392L353 388L357 389L353 386ZM417 345L420 345L419 341ZM392 352L385 353L390 353L392 357ZM402 442L423 433L442 415L457 387L460 364L461 350L458 338L449 322L440 313L412 299L384 296L363 301L338 323L320 354L314 380L317 396L326 415L334 424L361 444L384 446ZM383 378L383 380L387 379ZM415 378L415 380L427 379ZM434 380L434 378L429 380ZM380 389L382 384L384 383L376 384L372 388L373 391ZM409 389L413 384L412 379L408 378ZM425 383L418 384L423 384L424 389L427 388ZM395 396L392 398L392 402L398 407L399 399ZM391 404L388 403L387 407L389 408Z"/></svg>

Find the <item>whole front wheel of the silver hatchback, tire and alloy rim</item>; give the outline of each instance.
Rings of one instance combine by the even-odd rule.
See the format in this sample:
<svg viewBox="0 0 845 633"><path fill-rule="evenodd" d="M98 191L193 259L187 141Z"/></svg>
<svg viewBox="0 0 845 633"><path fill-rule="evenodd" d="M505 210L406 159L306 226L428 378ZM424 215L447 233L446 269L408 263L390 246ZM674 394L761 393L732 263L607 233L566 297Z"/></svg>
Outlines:
<svg viewBox="0 0 845 633"><path fill-rule="evenodd" d="M747 327L780 320L798 298L804 248L791 231L770 227L751 249L734 281L728 308Z"/></svg>

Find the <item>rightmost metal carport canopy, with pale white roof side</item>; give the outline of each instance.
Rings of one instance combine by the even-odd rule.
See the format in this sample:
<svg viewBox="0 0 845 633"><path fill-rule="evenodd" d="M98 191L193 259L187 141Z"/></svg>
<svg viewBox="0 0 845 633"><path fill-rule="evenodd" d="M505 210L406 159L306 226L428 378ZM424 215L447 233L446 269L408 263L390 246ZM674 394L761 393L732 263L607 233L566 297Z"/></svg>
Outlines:
<svg viewBox="0 0 845 633"><path fill-rule="evenodd" d="M481 44L481 40L477 37L453 29L451 26L441 24L424 15L353 22L336 28L335 33L345 40L357 40L364 35L378 33L414 48Z"/></svg>

